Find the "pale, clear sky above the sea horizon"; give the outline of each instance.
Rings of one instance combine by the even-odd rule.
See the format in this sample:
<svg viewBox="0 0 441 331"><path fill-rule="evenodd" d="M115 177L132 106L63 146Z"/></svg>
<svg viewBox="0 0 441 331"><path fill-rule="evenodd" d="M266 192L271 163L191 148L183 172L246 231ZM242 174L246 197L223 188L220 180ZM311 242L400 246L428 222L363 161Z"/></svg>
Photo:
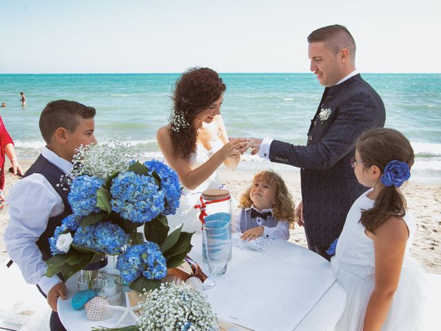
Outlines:
<svg viewBox="0 0 441 331"><path fill-rule="evenodd" d="M309 72L307 36L346 26L360 72L441 72L439 0L0 0L0 74Z"/></svg>

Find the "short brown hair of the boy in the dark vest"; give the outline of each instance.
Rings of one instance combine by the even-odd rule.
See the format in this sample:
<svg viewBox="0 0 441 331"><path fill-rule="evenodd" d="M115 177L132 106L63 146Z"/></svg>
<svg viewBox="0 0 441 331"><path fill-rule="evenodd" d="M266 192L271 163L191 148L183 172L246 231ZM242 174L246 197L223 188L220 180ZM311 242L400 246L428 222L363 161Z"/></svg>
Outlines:
<svg viewBox="0 0 441 331"><path fill-rule="evenodd" d="M56 100L48 103L40 115L39 127L46 143L50 143L58 128L74 132L80 119L91 119L95 116L95 108L69 100Z"/></svg>

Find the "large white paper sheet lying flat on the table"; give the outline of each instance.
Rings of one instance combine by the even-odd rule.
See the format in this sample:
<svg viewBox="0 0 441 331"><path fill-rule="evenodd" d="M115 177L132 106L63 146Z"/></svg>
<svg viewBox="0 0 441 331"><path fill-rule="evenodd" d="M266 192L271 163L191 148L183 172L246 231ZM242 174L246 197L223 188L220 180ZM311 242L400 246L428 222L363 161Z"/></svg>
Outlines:
<svg viewBox="0 0 441 331"><path fill-rule="evenodd" d="M261 270L274 270L263 278ZM220 319L256 331L291 331L334 283L330 268L309 268L265 256L252 256L240 266L239 277L227 272L207 290L208 301ZM271 282L271 290L262 284ZM267 287L268 288L268 287Z"/></svg>

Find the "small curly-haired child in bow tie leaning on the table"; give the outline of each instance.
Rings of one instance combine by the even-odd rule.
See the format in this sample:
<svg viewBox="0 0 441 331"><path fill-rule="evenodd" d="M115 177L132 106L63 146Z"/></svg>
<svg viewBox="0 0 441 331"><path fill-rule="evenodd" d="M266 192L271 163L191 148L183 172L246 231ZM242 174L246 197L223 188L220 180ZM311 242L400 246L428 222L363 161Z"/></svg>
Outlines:
<svg viewBox="0 0 441 331"><path fill-rule="evenodd" d="M241 239L289 239L295 205L285 181L273 170L254 175L251 187L240 196L238 207L232 214L232 232L242 232Z"/></svg>

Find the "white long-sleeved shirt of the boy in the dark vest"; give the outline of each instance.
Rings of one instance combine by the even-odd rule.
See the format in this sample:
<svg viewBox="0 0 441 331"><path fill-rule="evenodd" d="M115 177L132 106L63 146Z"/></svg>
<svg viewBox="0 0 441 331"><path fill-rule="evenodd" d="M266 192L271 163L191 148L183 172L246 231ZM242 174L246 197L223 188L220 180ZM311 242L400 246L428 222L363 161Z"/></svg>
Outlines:
<svg viewBox="0 0 441 331"><path fill-rule="evenodd" d="M41 154L63 172L72 169L72 163L48 148L43 148ZM42 174L31 174L12 186L7 201L10 221L4 241L8 254L19 266L25 281L38 284L48 294L61 279L57 275L44 276L48 266L42 259L37 240L46 230L48 219L63 212L63 200Z"/></svg>

